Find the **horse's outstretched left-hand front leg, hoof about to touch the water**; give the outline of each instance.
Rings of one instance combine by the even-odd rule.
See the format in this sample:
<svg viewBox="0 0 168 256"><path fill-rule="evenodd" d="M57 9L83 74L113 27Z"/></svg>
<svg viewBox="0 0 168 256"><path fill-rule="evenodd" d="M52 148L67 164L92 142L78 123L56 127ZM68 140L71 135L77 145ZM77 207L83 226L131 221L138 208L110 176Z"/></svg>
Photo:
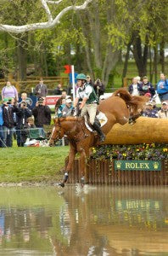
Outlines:
<svg viewBox="0 0 168 256"><path fill-rule="evenodd" d="M74 163L75 156L76 156L76 148L74 148L72 145L70 145L68 165L67 165L66 170L64 172L64 179L61 183L59 183L59 186L61 186L62 188L64 188L64 183L66 183L67 180L68 180L69 172L72 170L72 166L73 166L73 163Z"/></svg>

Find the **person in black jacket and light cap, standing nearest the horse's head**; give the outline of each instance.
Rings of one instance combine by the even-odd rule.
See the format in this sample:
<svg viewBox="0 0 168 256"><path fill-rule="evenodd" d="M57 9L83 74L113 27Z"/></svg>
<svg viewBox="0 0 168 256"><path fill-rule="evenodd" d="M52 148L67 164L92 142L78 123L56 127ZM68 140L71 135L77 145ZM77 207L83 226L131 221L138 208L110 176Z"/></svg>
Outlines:
<svg viewBox="0 0 168 256"><path fill-rule="evenodd" d="M51 109L45 106L45 101L43 98L39 98L36 102L36 107L32 109L32 114L35 118L35 125L39 128L42 133L42 137L45 137L45 132L43 130L43 125L50 125L51 123Z"/></svg>

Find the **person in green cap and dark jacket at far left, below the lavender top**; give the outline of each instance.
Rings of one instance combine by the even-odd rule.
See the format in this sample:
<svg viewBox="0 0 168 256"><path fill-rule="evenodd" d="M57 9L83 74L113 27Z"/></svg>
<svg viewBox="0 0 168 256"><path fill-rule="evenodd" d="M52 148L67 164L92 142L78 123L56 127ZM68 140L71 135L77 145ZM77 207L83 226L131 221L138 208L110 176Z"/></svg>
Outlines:
<svg viewBox="0 0 168 256"><path fill-rule="evenodd" d="M7 147L12 147L14 133L14 112L18 113L19 108L12 103L11 99L3 100L3 139Z"/></svg>

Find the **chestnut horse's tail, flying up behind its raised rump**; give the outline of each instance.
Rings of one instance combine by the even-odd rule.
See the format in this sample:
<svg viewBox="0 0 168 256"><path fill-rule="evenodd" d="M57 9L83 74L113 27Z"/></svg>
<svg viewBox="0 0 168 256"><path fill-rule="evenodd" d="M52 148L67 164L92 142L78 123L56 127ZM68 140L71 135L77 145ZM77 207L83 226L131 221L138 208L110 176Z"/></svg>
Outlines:
<svg viewBox="0 0 168 256"><path fill-rule="evenodd" d="M113 96L120 96L120 98L126 102L126 105L132 108L133 113L137 113L138 109L143 109L144 103L148 101L147 97L145 96L132 96L124 88L115 90Z"/></svg>

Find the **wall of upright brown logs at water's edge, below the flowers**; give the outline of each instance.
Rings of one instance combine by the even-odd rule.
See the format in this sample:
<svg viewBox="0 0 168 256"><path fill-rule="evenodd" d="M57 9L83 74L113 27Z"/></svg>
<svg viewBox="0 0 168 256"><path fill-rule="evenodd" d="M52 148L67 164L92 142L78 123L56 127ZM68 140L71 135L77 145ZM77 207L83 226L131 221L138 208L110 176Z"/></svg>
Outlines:
<svg viewBox="0 0 168 256"><path fill-rule="evenodd" d="M91 159L87 163L87 183L93 185L168 185L168 160L161 161L160 171L147 170L116 170L115 160ZM80 182L80 160L74 161L73 171L70 172L69 183Z"/></svg>

